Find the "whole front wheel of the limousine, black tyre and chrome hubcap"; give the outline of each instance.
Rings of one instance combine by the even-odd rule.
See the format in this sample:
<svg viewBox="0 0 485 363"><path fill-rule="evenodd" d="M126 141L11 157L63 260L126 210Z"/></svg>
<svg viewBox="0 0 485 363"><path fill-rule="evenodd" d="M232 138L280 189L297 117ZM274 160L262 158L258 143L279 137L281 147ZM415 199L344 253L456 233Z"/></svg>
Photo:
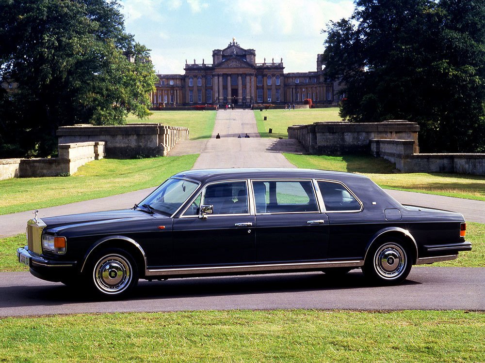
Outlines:
<svg viewBox="0 0 485 363"><path fill-rule="evenodd" d="M138 283L138 268L131 255L118 248L100 251L91 260L88 283L106 299L121 299Z"/></svg>

